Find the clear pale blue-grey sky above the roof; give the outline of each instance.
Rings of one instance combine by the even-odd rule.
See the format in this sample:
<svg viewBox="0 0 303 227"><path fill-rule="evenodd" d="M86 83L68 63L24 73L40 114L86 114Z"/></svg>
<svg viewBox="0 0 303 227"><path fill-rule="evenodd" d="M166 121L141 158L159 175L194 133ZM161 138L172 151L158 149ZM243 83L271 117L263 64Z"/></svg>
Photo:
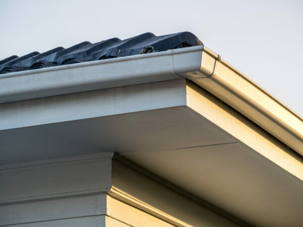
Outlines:
<svg viewBox="0 0 303 227"><path fill-rule="evenodd" d="M0 0L0 60L82 41L181 31L303 116L303 1Z"/></svg>

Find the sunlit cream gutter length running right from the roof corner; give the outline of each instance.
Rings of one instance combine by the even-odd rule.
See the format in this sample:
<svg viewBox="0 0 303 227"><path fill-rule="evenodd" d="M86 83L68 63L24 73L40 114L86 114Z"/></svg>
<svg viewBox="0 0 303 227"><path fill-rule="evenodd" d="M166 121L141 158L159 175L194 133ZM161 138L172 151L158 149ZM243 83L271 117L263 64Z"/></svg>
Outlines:
<svg viewBox="0 0 303 227"><path fill-rule="evenodd" d="M176 74L203 87L303 155L303 119L219 54L204 47L199 70Z"/></svg>

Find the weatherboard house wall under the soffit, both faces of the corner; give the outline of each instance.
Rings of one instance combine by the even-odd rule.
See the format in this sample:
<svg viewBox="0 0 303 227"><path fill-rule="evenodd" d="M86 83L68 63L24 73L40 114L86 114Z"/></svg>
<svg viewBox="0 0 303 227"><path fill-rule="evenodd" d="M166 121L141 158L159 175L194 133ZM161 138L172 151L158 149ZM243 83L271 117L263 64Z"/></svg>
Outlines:
<svg viewBox="0 0 303 227"><path fill-rule="evenodd" d="M97 223L106 215L113 218L106 221L109 224L106 226L142 226L146 221L148 224L145 226L185 227L200 223L238 226L228 218L183 197L117 160L113 161L114 164L110 162L110 167L106 166L111 158L112 153L56 158L1 171L0 174L4 177L1 182L7 188L0 189L0 194L5 195L6 199L0 205L0 225L45 224L48 227L58 223L71 226L77 219L80 223L87 223L85 226L90 226L88 223ZM98 168L92 168L93 165ZM37 174L40 176L37 177ZM52 174L55 175L52 177ZM81 175L80 178L78 175ZM93 190L95 182L108 183L107 178L98 178L100 175L110 175L113 178L113 186L111 181L111 186L103 192ZM6 178L13 183L5 182ZM22 181L19 181L20 178ZM83 185L88 190L70 192L71 188ZM26 197L26 193L31 190L32 196ZM49 190L54 194L47 194ZM18 198L8 201L12 195ZM186 210L183 206L186 206Z"/></svg>

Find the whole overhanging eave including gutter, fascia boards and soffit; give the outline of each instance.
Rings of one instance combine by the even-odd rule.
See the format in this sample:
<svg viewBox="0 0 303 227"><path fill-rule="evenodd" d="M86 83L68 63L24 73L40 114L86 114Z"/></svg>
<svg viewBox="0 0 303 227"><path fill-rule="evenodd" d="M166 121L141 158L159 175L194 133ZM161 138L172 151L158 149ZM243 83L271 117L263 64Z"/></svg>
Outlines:
<svg viewBox="0 0 303 227"><path fill-rule="evenodd" d="M301 223L302 120L219 59L196 46L1 76L2 171L117 152L253 225Z"/></svg>

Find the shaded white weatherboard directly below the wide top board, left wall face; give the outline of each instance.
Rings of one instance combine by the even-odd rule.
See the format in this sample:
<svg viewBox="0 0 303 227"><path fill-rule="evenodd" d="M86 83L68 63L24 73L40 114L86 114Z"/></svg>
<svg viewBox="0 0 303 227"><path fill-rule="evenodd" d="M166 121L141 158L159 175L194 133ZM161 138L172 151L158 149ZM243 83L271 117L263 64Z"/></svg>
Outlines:
<svg viewBox="0 0 303 227"><path fill-rule="evenodd" d="M106 215L106 193L43 199L0 206L0 226ZM56 222L53 222L56 223ZM56 225L57 226L57 225Z"/></svg>

